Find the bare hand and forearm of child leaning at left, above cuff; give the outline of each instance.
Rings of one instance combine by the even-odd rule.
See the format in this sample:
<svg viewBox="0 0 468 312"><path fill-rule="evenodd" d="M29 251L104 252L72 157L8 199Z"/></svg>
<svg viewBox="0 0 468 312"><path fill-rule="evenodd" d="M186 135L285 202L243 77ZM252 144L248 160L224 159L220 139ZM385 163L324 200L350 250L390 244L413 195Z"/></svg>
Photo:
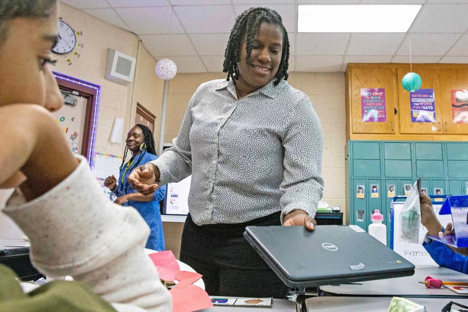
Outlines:
<svg viewBox="0 0 468 312"><path fill-rule="evenodd" d="M1 106L0 133L0 185L21 171L28 200L49 191L78 166L57 123L38 105Z"/></svg>

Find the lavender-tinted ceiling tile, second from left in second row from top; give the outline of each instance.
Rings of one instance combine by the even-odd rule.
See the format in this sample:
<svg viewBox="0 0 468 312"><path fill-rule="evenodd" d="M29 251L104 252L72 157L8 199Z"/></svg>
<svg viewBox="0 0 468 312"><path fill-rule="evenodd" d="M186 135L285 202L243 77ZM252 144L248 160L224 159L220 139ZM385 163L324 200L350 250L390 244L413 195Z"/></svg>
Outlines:
<svg viewBox="0 0 468 312"><path fill-rule="evenodd" d="M138 35L183 33L170 6L118 8L118 15Z"/></svg>

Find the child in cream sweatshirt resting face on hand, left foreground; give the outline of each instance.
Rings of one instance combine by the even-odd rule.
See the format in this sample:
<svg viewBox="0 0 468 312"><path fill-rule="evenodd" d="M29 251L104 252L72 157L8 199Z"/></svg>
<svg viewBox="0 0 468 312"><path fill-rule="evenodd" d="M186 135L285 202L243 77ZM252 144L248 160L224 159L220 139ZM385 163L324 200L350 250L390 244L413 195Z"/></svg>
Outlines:
<svg viewBox="0 0 468 312"><path fill-rule="evenodd" d="M0 0L0 188L22 192L3 212L28 235L33 265L81 283L52 282L26 295L1 266L0 311L170 311L143 250L145 221L108 200L47 111L62 104L47 65L57 17L56 0Z"/></svg>

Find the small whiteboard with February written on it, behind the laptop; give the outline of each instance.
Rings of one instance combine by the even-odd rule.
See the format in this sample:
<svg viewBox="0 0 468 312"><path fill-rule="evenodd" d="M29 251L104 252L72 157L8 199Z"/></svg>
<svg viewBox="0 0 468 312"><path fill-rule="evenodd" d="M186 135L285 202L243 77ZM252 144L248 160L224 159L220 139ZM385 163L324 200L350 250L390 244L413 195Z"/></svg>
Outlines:
<svg viewBox="0 0 468 312"><path fill-rule="evenodd" d="M391 233L393 237L393 251L397 254L401 255L409 262L414 265L435 265L434 260L430 257L429 253L423 247L424 236L428 233L428 230L421 224L419 228L419 242L418 244L414 244L411 242L405 242L399 240L399 233L400 233L400 213L403 208L405 202L397 201L393 202L393 214L392 214L392 224L393 224L393 231ZM432 208L434 209L435 215L439 219L442 226L445 227L448 222L452 222L451 215L439 215L439 211L442 208L442 204L432 204Z"/></svg>

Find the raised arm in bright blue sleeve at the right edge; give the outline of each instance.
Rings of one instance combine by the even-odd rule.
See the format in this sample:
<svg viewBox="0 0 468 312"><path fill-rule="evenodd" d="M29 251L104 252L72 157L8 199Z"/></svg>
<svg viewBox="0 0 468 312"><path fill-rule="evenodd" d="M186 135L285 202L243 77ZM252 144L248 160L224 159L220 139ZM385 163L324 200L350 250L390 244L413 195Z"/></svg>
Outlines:
<svg viewBox="0 0 468 312"><path fill-rule="evenodd" d="M421 223L428 229L423 246L431 258L440 266L454 271L468 274L468 248L453 248L441 242L430 239L429 235L438 235L439 232L452 234L452 224L448 223L444 229L432 209L432 200L428 195L419 194L421 205Z"/></svg>

